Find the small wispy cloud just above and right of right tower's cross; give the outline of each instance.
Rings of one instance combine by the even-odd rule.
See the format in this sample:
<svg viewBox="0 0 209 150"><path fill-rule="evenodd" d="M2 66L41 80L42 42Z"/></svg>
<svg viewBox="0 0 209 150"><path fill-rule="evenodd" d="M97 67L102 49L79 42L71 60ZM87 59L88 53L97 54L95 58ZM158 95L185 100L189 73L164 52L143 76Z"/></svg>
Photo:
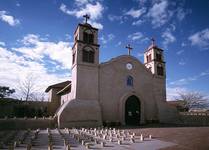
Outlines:
<svg viewBox="0 0 209 150"><path fill-rule="evenodd" d="M164 48L167 48L169 44L171 44L171 43L176 41L175 36L171 33L171 30L169 28L167 28L162 33L162 38L164 39L164 41L163 41Z"/></svg>

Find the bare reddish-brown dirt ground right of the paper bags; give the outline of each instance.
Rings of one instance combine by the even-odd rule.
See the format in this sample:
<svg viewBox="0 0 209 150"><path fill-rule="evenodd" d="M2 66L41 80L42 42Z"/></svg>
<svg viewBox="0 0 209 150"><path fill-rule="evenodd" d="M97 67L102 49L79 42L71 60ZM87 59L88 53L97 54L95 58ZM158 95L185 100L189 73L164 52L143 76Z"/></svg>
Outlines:
<svg viewBox="0 0 209 150"><path fill-rule="evenodd" d="M209 127L163 127L129 129L136 135L151 134L153 138L177 144L161 150L209 150Z"/></svg>

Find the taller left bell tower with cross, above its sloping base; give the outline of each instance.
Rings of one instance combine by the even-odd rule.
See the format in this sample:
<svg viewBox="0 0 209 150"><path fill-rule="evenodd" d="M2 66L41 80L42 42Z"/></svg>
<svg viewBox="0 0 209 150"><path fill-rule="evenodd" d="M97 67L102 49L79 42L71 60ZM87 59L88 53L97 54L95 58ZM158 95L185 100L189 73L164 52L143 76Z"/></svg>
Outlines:
<svg viewBox="0 0 209 150"><path fill-rule="evenodd" d="M78 24L72 47L72 93L75 99L98 100L98 29L85 22Z"/></svg>

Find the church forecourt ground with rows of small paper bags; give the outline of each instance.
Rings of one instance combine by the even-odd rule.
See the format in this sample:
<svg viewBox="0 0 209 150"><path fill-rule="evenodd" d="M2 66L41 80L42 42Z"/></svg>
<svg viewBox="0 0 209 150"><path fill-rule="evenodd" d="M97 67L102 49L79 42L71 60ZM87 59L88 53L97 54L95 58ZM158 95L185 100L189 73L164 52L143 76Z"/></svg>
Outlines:
<svg viewBox="0 0 209 150"><path fill-rule="evenodd" d="M209 127L1 130L0 149L208 150Z"/></svg>

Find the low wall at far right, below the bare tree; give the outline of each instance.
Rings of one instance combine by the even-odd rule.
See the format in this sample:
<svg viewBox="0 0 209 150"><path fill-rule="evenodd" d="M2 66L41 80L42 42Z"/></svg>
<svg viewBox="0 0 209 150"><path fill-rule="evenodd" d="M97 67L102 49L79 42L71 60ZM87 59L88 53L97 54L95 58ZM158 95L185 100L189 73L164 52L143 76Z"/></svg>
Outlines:
<svg viewBox="0 0 209 150"><path fill-rule="evenodd" d="M180 119L185 125L209 126L209 113L205 112L182 112Z"/></svg>

